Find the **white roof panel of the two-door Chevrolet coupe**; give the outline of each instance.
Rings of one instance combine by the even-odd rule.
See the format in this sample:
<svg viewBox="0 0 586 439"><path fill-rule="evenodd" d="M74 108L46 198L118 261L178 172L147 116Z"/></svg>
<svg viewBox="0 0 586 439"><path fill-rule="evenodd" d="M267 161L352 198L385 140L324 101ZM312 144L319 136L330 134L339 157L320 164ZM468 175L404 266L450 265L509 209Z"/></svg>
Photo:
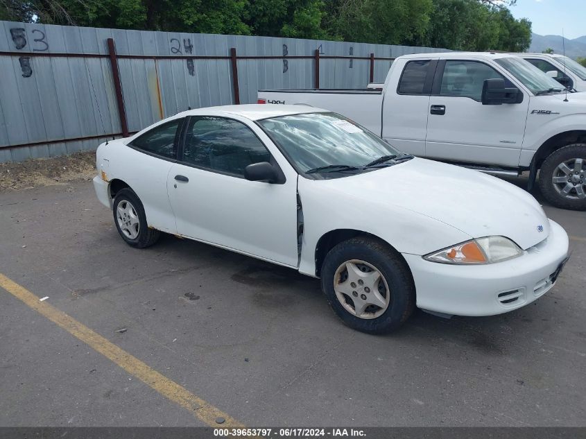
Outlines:
<svg viewBox="0 0 586 439"><path fill-rule="evenodd" d="M203 107L196 110L187 110L180 113L182 116L230 116L236 115L258 121L270 117L288 116L290 114L304 114L327 112L310 105L280 105L280 104L243 104L221 105L218 107Z"/></svg>

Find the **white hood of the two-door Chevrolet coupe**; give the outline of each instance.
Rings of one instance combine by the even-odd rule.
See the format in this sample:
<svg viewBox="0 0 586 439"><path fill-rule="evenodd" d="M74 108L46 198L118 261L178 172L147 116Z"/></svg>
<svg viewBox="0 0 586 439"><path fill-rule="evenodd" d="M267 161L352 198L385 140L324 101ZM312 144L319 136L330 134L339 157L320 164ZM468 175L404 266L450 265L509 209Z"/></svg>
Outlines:
<svg viewBox="0 0 586 439"><path fill-rule="evenodd" d="M491 175L414 158L383 169L321 180L364 203L408 209L474 238L506 236L523 249L549 235L549 221L529 193Z"/></svg>

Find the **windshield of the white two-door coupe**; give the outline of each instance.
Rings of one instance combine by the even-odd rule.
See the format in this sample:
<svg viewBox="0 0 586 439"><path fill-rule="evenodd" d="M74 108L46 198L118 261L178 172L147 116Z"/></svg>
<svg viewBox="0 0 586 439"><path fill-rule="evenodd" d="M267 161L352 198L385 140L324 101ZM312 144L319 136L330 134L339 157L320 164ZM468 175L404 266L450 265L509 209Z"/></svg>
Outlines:
<svg viewBox="0 0 586 439"><path fill-rule="evenodd" d="M364 166L406 159L386 141L336 113L273 117L259 125L301 173L361 172ZM374 163L377 162L377 163Z"/></svg>

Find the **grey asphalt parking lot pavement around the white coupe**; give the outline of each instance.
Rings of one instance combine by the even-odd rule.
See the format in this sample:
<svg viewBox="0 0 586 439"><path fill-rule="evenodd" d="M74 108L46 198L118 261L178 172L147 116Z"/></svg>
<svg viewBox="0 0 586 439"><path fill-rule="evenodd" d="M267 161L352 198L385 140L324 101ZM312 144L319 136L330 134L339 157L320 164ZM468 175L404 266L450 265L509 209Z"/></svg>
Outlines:
<svg viewBox="0 0 586 439"><path fill-rule="evenodd" d="M540 300L370 336L294 270L130 248L91 182L0 193L0 273L50 310L0 289L0 426L205 425L183 391L248 426L586 426L586 213L545 209L572 255Z"/></svg>

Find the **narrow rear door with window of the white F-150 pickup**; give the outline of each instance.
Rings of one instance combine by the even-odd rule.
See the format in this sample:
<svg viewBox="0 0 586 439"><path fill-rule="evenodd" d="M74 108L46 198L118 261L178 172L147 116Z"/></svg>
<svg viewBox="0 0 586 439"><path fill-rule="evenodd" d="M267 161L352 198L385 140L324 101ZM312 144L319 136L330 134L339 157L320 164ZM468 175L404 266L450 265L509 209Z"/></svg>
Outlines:
<svg viewBox="0 0 586 439"><path fill-rule="evenodd" d="M389 88L390 84L398 85L384 96L381 137L404 153L425 155L427 109L436 64L436 60L408 60L387 80Z"/></svg>

